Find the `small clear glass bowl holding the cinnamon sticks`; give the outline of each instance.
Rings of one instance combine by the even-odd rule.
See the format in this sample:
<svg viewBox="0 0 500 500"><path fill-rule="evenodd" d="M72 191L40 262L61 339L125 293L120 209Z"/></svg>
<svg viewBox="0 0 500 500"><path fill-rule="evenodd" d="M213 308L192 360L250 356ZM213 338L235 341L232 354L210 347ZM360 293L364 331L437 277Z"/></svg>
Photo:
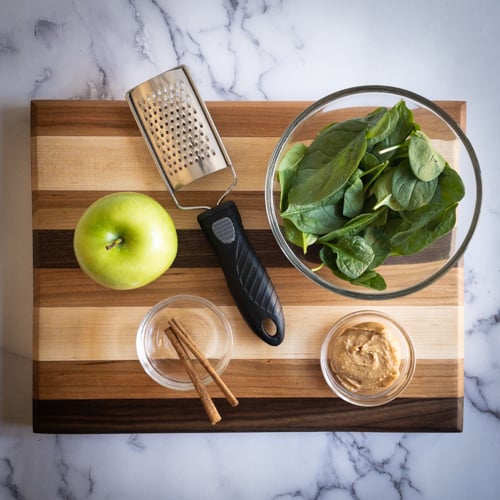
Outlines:
<svg viewBox="0 0 500 500"><path fill-rule="evenodd" d="M137 330L136 349L145 372L158 384L169 389L194 389L182 362L164 330L175 318L191 334L199 350L222 375L233 347L231 325L212 302L192 295L175 295L162 300L146 314ZM187 349L190 358L194 355ZM212 381L200 363L193 362L203 384Z"/></svg>

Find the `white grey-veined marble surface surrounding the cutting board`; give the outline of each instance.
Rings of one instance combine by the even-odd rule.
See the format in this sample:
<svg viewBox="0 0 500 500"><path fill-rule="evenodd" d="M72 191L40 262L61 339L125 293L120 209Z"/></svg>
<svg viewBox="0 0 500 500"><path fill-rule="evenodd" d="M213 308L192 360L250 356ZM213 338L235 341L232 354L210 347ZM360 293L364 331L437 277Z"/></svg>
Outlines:
<svg viewBox="0 0 500 500"><path fill-rule="evenodd" d="M0 499L496 499L500 3L0 1ZM123 99L187 64L202 96L385 83L468 103L484 203L465 259L461 434L31 432L29 101Z"/></svg>

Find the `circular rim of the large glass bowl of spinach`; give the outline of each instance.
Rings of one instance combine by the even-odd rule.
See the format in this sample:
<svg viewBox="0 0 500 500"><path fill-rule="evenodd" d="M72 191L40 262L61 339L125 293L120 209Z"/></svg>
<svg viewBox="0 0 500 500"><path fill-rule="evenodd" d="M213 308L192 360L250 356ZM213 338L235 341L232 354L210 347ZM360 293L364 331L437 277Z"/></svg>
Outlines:
<svg viewBox="0 0 500 500"><path fill-rule="evenodd" d="M290 135L297 129L297 127L306 120L309 116L312 116L316 111L326 106L329 103L332 103L336 100L342 99L344 97L350 97L356 94L367 94L367 93L382 93L382 94L392 94L398 95L401 97L406 97L411 99L415 103L428 108L430 111L435 113L439 118L441 118L456 134L456 136L460 139L463 146L465 147L467 154L470 158L470 162L472 165L472 170L475 179L475 204L474 204L474 212L472 214L471 223L467 230L466 235L463 238L463 241L460 243L460 246L455 249L452 255L448 258L446 263L440 267L437 271L429 275L427 278L419 281L418 283L408 286L406 288L395 290L393 292L361 292L356 290L348 290L342 287L336 286L330 282L327 282L321 279L316 273L311 272L311 270L305 266L294 254L292 250L290 250L290 246L288 241L284 238L281 229L278 225L278 216L274 209L274 200L273 200L273 186L275 182L276 169L278 167L278 160L283 153L285 145L288 141ZM367 299L367 300L385 300L385 299L393 299L398 297L403 297L405 295L409 295L419 290L422 290L434 283L436 280L444 276L455 264L460 260L460 258L464 255L467 246L469 245L472 235L474 234L477 223L479 220L479 214L481 211L482 204L482 180L481 180L481 169L479 166L479 161L476 155L476 152L465 134L462 128L458 125L458 123L439 105L435 102L407 89L403 89L400 87L394 87L389 85L359 85L354 87L348 87L342 90L338 90L336 92L332 92L323 98L313 102L309 106L307 106L301 113L299 113L290 124L286 127L286 129L281 134L281 137L276 144L271 157L268 162L266 178L265 178L265 187L264 187L264 201L267 213L267 219L269 225L271 227L271 231L281 249L281 251L285 254L285 257L289 260L289 262L296 267L299 271L301 271L306 277L315 282L316 284L326 288L332 292L336 292L340 295L344 295L346 297L356 298L356 299ZM361 287L360 287L361 289Z"/></svg>

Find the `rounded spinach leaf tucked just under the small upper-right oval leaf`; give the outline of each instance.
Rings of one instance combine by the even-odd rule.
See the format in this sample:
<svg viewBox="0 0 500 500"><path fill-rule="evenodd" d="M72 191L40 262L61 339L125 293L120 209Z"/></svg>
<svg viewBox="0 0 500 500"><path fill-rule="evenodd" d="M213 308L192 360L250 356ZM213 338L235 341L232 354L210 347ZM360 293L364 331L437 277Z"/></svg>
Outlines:
<svg viewBox="0 0 500 500"><path fill-rule="evenodd" d="M404 210L416 210L429 203L436 192L437 177L421 181L413 174L408 161L394 168L391 192L396 203Z"/></svg>

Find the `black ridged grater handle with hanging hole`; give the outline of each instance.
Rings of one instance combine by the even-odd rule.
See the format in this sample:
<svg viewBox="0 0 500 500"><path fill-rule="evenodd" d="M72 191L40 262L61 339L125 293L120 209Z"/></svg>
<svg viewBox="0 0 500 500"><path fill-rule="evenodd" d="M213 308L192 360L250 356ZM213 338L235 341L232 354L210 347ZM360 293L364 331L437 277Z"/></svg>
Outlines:
<svg viewBox="0 0 500 500"><path fill-rule="evenodd" d="M226 201L201 213L198 222L219 258L243 319L268 344L281 344L285 333L281 303L248 241L235 203Z"/></svg>

